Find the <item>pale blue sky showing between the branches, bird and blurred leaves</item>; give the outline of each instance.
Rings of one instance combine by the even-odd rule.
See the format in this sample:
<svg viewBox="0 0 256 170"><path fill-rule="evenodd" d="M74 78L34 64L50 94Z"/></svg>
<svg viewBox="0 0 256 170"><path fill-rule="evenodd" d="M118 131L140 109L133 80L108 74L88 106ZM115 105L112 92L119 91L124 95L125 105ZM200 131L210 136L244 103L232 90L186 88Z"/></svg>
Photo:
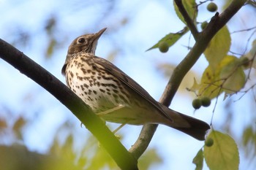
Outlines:
<svg viewBox="0 0 256 170"><path fill-rule="evenodd" d="M99 39L97 55L108 58L117 48L118 55L113 60L116 66L136 80L151 96L158 100L165 88L167 79L156 69L155 64L171 63L176 65L188 52L184 46L188 45L189 34L184 36L177 45L171 47L168 53L159 53L159 50L145 52L166 34L184 28L184 24L178 21L176 17L172 1L162 1L160 4L156 0L124 0L116 2L113 10L109 11L108 6L102 8L99 2L102 1L80 3L78 0L0 0L0 11L4 16L0 21L0 38L7 42L15 42L16 35L13 33L20 29L28 29L33 35L31 43L26 46L17 43L15 47L64 82L61 67L72 39L81 34L93 33L101 28L108 27L108 30ZM221 1L216 2L221 4ZM90 3L95 4L90 5ZM84 10L80 10L81 8L84 8ZM199 15L199 20L202 22L209 20L213 15L206 12L203 7L200 7L199 10L203 11ZM42 24L51 15L56 15L56 18L58 18L56 28L58 31L53 36L61 42L61 45L57 47L56 52L53 53L50 59L45 59L45 53L42 53L42 51L45 51L48 39L45 36ZM125 17L127 17L128 23L122 26L121 20ZM97 18L102 19L97 20ZM231 23L236 24L239 20L242 20L242 18L236 19L232 20ZM248 23L244 23L244 28L249 28L249 25L246 24ZM190 43L192 44L193 40ZM235 45L239 46L239 43L235 43ZM203 72L206 66L207 61L202 57L192 70L200 73ZM11 107L14 112L23 114L30 120L37 117L36 121L26 127L27 131L24 135L24 142L31 150L46 152L53 140L50 136L55 134L59 125L67 120L67 117L76 121L78 127L80 126L79 121L56 98L50 96L39 85L21 75L20 72L2 60L0 60L0 77L2 89L0 90L0 103ZM191 77L189 78L191 79ZM37 97L34 97L33 94L37 94ZM194 113L191 105L194 97L183 89L177 93L170 108L210 123L214 104ZM223 98L223 96L220 98ZM248 102L246 100L248 99L243 98L241 103ZM23 102L26 104L23 104ZM214 102L212 101L212 103ZM31 105L28 107L27 103L31 103ZM225 104L227 104L225 101L217 104L214 120L221 119L219 117L222 116ZM238 109L244 110L242 105L240 104L239 107L238 104ZM0 112L0 117L7 116L6 114ZM240 118L238 117L237 120ZM214 125L218 127L218 121L215 122ZM112 126L115 127L116 125ZM127 127L121 129L120 133L125 134L123 141L125 147L129 148L135 142L140 133L140 128L141 126L127 125ZM79 131L79 134L85 133L84 128L77 128L76 130ZM84 135L86 136L86 134ZM11 138L12 136L10 136ZM83 141L83 139L79 140ZM4 143L7 144L8 141L6 140ZM157 169L195 169L192 158L203 147L203 142L192 139L164 125L159 125L150 147L157 148L157 152L164 159L162 165L152 166L151 169L156 169L156 167ZM243 163L246 164L246 161L241 159L241 169L244 167ZM204 165L204 169L208 169L206 165Z"/></svg>

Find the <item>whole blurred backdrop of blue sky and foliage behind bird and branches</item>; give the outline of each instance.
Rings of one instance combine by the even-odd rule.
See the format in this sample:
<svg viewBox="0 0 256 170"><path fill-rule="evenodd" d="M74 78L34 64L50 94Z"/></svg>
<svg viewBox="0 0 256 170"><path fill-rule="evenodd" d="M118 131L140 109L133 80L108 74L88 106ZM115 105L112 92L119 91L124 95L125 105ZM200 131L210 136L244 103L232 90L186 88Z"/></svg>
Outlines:
<svg viewBox="0 0 256 170"><path fill-rule="evenodd" d="M219 12L230 3L229 0L214 2ZM250 2L227 25L232 37L230 54L244 55L252 48L256 8L255 1ZM158 99L173 68L194 43L191 35L185 34L167 53L160 53L159 50L145 52L166 34L184 28L176 17L172 3L167 0L0 0L3 16L0 37L64 82L61 66L72 39L108 27L99 39L97 55L115 63ZM198 8L198 20L202 23L214 15L206 10L206 4ZM196 96L186 90L192 87L194 77L200 80L206 67L206 59L200 58L182 82L171 107L210 123L214 104L194 113L191 103ZM250 71L250 82L244 87L244 92L225 101L222 101L223 96L212 101L218 101L214 128L236 140L241 169L256 166L256 93L255 87L250 88L255 85L255 76L255 70ZM69 166L72 169L118 169L108 153L86 128L80 127L80 122L69 110L2 60L0 85L0 164L5 165L1 167L20 169L24 165L24 169L34 169L33 163L20 160L29 158L42 165L42 169L69 169ZM108 125L111 129L118 126L113 123ZM135 142L140 128L126 125L118 132L127 148ZM140 158L139 167L194 169L192 158L202 146L202 142L160 126L150 147ZM65 165L63 160L70 163ZM56 166L48 166L50 161Z"/></svg>

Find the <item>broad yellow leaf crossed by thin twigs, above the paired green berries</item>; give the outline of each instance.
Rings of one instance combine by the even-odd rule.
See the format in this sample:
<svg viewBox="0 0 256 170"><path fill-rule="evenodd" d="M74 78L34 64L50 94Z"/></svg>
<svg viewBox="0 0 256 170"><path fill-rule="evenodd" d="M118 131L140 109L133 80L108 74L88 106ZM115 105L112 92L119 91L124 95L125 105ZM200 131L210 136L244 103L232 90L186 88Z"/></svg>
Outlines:
<svg viewBox="0 0 256 170"><path fill-rule="evenodd" d="M238 92L244 87L245 82L246 78L241 62L235 56L225 55L214 71L211 66L206 68L200 85L196 87L198 96L215 98L223 91L226 94Z"/></svg>

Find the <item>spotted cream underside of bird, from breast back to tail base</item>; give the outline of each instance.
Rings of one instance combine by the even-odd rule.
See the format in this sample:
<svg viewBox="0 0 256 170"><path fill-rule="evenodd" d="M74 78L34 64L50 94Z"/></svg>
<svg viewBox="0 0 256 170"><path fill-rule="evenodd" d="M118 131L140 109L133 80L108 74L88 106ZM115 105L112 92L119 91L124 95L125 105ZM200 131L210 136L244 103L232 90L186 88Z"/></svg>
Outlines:
<svg viewBox="0 0 256 170"><path fill-rule="evenodd" d="M85 72L68 65L66 80L69 88L107 121L133 125L163 122L162 117L156 116L158 111L154 107L137 104L136 96L132 96L120 80L106 72L88 72L87 69Z"/></svg>

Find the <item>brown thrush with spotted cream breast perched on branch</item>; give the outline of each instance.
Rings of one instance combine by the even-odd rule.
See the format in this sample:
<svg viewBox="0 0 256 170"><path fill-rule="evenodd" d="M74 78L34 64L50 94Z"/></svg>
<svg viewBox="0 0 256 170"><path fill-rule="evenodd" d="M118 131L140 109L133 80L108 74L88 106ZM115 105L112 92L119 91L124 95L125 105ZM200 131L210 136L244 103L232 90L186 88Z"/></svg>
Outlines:
<svg viewBox="0 0 256 170"><path fill-rule="evenodd" d="M105 121L121 125L162 124L205 140L208 123L159 103L121 69L95 55L98 39L106 29L78 36L69 45L61 69L67 86Z"/></svg>

